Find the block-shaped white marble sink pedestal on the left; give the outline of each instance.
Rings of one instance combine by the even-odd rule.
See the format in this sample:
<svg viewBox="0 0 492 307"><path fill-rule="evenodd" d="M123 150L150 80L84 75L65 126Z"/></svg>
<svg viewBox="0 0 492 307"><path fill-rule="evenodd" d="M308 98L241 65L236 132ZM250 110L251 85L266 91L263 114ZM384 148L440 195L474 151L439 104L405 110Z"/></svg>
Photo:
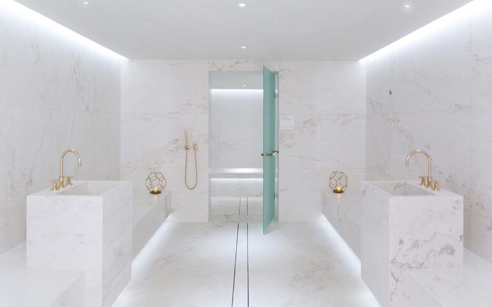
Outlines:
<svg viewBox="0 0 492 307"><path fill-rule="evenodd" d="M131 279L132 183L74 181L27 197L27 267L80 270L85 307L110 307Z"/></svg>

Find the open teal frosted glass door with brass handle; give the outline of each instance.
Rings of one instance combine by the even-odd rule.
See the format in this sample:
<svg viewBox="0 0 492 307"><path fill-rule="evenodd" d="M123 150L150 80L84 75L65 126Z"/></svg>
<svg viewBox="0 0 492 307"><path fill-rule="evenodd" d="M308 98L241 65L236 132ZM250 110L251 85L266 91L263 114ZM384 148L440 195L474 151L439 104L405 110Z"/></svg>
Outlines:
<svg viewBox="0 0 492 307"><path fill-rule="evenodd" d="M263 66L263 233L275 218L277 151L277 76Z"/></svg>

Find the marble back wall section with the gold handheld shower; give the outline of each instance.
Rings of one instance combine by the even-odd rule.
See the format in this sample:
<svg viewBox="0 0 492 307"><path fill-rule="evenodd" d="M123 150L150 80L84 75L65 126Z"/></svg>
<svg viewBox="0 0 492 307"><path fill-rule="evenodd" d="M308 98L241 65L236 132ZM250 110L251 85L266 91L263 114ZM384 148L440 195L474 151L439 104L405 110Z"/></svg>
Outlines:
<svg viewBox="0 0 492 307"><path fill-rule="evenodd" d="M145 190L160 171L173 193L169 220L208 221L208 64L201 60L134 60L122 65L121 177ZM198 185L184 186L184 130L198 143ZM188 152L188 185L195 180Z"/></svg>

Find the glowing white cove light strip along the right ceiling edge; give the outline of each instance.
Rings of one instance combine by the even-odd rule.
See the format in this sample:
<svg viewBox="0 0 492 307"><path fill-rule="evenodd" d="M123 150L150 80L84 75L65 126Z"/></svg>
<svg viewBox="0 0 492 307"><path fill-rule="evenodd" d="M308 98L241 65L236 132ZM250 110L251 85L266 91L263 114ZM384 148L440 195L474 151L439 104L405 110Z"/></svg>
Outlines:
<svg viewBox="0 0 492 307"><path fill-rule="evenodd" d="M406 36L403 36L399 40L379 49L369 56L362 58L360 61L366 62L373 60L376 57L386 55L396 49L404 47L405 45L411 45L412 43L415 43L416 41L422 39L427 35L431 35L438 31L444 31L450 25L456 24L466 19L472 19L474 16L479 15L480 13L487 12L487 10L490 9L492 9L492 0L473 0L452 11L451 13L434 20L430 24L417 29Z"/></svg>

